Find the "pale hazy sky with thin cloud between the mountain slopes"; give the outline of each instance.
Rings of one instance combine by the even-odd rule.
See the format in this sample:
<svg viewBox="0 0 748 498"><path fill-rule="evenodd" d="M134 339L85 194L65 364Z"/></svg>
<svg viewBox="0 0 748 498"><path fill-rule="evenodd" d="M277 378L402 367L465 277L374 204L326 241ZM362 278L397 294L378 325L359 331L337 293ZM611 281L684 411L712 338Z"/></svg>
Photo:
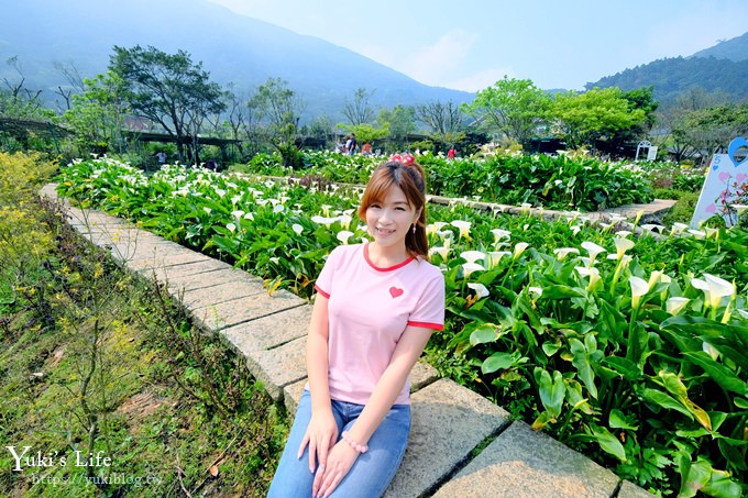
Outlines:
<svg viewBox="0 0 748 498"><path fill-rule="evenodd" d="M748 0L210 1L469 91L504 75L582 89L748 31Z"/></svg>

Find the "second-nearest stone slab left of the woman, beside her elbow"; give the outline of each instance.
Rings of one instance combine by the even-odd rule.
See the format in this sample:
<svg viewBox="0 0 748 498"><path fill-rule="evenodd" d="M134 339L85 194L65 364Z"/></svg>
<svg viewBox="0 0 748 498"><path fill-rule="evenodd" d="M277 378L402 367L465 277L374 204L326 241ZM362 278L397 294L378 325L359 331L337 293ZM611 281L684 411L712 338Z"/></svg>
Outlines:
<svg viewBox="0 0 748 498"><path fill-rule="evenodd" d="M229 327L223 329L221 334L234 345L238 352L249 355L250 352L272 350L306 336L309 320L311 320L311 306L299 306L270 317ZM304 366L306 370L306 359Z"/></svg>

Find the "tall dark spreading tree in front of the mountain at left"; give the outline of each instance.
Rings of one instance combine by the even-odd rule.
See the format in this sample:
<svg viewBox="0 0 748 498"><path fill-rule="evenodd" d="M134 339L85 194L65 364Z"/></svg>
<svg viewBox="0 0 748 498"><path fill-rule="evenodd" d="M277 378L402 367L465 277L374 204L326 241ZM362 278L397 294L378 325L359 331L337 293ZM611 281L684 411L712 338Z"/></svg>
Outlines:
<svg viewBox="0 0 748 498"><path fill-rule="evenodd" d="M109 69L123 82L123 97L135 115L160 124L174 137L180 159L199 164L198 133L206 117L221 112L221 87L210 81L202 63L194 64L189 54L166 54L114 46Z"/></svg>

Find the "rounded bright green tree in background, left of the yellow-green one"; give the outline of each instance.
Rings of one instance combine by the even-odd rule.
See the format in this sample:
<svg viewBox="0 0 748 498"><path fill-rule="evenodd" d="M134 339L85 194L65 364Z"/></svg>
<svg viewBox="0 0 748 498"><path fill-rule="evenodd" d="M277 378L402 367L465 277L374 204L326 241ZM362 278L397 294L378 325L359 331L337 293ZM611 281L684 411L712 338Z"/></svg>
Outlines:
<svg viewBox="0 0 748 498"><path fill-rule="evenodd" d="M526 144L546 122L551 98L530 79L499 79L476 93L463 110L475 118L479 128Z"/></svg>

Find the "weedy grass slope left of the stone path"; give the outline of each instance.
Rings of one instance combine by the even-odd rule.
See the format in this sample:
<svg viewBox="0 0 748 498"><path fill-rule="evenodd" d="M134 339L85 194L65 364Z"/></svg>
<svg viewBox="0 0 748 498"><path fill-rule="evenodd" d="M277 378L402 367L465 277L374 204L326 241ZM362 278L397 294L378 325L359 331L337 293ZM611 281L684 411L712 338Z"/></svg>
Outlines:
<svg viewBox="0 0 748 498"><path fill-rule="evenodd" d="M36 187L0 188L0 496L265 496L283 408Z"/></svg>

